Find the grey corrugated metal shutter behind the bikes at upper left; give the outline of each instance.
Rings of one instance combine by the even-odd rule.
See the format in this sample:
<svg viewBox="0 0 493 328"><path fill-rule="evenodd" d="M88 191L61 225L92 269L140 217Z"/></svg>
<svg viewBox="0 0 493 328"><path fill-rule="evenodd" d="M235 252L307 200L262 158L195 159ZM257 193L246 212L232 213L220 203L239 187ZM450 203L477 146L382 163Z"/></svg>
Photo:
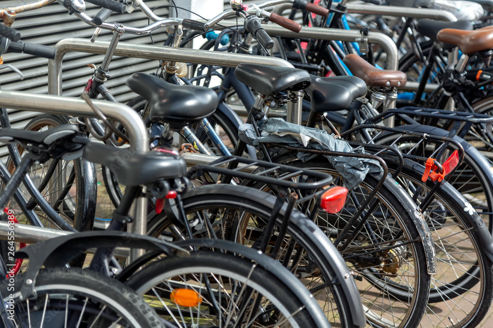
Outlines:
<svg viewBox="0 0 493 328"><path fill-rule="evenodd" d="M168 4L168 0L146 0L149 8L156 8ZM0 1L0 6L19 4L18 0ZM98 8L86 2L86 13L92 17L98 12ZM155 13L162 17L168 17L168 9L157 9ZM119 22L127 26L146 26L147 17L136 10L131 14L112 15L108 22ZM94 28L84 24L77 17L70 16L67 10L58 2L54 2L44 8L30 12L20 13L12 27L21 32L22 40L53 46L58 41L68 37L90 38ZM103 30L98 40L110 40L111 32ZM165 29L152 33L155 44L163 44L168 37ZM152 44L149 35L137 36L125 34L121 41ZM78 96L83 90L87 80L92 76L92 69L86 64L94 63L99 66L104 55L92 55L84 53L68 53L63 61L63 95ZM24 54L6 54L3 56L5 63L12 64L22 71L24 80L19 75L9 70L3 70L0 74L2 89L29 91L34 93L47 93L47 63L48 60L35 58ZM132 99L135 94L125 86L126 78L134 72L153 72L158 67L156 60L142 60L135 58L114 57L109 65L111 79L106 83L112 94L118 101L125 102ZM13 127L22 128L30 119L38 115L35 112L9 110L9 117ZM6 153L5 147L0 147L0 156Z"/></svg>

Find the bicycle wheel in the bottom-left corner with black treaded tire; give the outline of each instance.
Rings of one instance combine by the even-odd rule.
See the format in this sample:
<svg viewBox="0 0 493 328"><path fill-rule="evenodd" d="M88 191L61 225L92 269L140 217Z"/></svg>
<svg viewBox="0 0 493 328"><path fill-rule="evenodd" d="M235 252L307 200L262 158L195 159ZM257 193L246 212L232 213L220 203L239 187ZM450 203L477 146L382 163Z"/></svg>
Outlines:
<svg viewBox="0 0 493 328"><path fill-rule="evenodd" d="M24 275L15 277L20 291ZM154 310L134 291L93 271L48 268L39 271L35 298L10 298L12 287L0 283L3 301L13 300L16 327L162 327ZM7 303L10 304L10 303Z"/></svg>

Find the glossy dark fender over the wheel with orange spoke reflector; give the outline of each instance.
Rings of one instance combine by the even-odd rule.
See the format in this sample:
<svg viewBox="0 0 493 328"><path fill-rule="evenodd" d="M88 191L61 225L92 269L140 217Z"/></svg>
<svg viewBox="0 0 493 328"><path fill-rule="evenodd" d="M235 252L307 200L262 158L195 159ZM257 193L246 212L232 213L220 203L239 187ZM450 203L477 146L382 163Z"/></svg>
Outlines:
<svg viewBox="0 0 493 328"><path fill-rule="evenodd" d="M325 317L320 306L318 306L314 297L310 292L300 283L298 278L292 274L289 270L284 268L281 263L274 260L269 256L265 256L258 250L250 247L246 247L242 244L222 239L186 239L180 240L174 243L176 246L186 248L188 246L194 246L197 248L211 248L215 250L224 250L236 255L241 255L248 260L260 265L266 271L272 273L276 277L280 278L286 286L296 294L305 304L313 304L313 306L307 306L307 310L311 314L312 318L318 323L318 327L330 328L330 324ZM339 256L340 257L340 256ZM346 267L347 268L347 267ZM359 294L358 294L359 297ZM359 301L361 303L361 300Z"/></svg>

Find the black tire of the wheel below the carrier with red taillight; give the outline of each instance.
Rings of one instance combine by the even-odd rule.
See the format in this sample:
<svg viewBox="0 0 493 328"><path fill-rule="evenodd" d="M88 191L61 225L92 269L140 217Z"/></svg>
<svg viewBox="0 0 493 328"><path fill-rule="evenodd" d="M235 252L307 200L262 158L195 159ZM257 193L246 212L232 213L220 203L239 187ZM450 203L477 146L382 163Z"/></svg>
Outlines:
<svg viewBox="0 0 493 328"><path fill-rule="evenodd" d="M207 209L239 209L242 211L244 217L248 213L252 213L254 216L269 218L275 197L252 188L225 184L204 185L191 189L182 195L181 201L187 215ZM277 217L277 226L282 224L284 210L285 206L281 209ZM342 286L332 283L335 281L334 277L336 276L334 268L325 260L325 255L323 255L325 252L321 252L316 246L317 243L312 241L316 237L297 228L296 222L300 220L306 220L306 217L297 210L293 211L290 221L292 223L288 225L288 234L306 250L312 262L316 263L323 274L323 279L331 282L328 287L320 290L318 293L314 292L315 298L320 302L324 301L328 303L324 308L324 312L329 317L331 324L336 324L337 327L354 327L351 324L351 320L348 321L347 316L348 313L351 313L351 309L348 307L352 302L347 300ZM147 234L153 237L159 237L170 224L171 221L165 215L156 215L148 220ZM224 227L221 227L220 231L222 232L224 229ZM314 229L316 229L315 226ZM202 231L198 231L198 236L194 237L206 237L202 234ZM307 276L306 279L306 285L309 286L310 290L310 277ZM314 284L316 284L317 279L317 277L314 278Z"/></svg>

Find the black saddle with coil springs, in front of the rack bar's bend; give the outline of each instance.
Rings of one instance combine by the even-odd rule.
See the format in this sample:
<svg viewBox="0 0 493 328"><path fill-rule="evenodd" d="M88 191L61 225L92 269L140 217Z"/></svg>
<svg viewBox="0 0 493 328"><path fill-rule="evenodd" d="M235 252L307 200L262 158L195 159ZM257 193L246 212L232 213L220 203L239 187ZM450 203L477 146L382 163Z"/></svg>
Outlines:
<svg viewBox="0 0 493 328"><path fill-rule="evenodd" d="M239 64L236 78L260 94L274 98L287 89L303 90L310 85L308 72L290 67L261 64Z"/></svg>

